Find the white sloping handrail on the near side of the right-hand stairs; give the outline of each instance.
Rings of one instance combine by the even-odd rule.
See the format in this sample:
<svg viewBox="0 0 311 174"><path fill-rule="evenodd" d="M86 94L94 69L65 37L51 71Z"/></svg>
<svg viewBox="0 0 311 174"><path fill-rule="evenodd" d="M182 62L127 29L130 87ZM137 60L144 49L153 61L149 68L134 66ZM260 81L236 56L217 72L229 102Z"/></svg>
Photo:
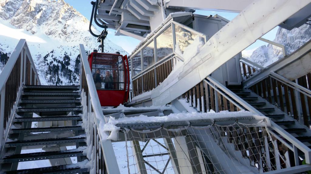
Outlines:
<svg viewBox="0 0 311 174"><path fill-rule="evenodd" d="M207 82L209 81L212 84L214 84L217 88L221 89L222 91L224 91L225 94L230 96L234 101L242 105L246 110L251 111L254 114L257 114L260 116L265 116L261 112L259 112L257 109L252 107L250 104L245 102L243 99L241 99L239 96L234 94L232 91L227 89L224 85L219 83L217 80L213 79L212 77L207 76L206 80L204 81L207 81ZM306 163L310 164L311 149L308 146L304 145L301 141L297 140L290 133L286 132L283 128L281 128L279 125L275 124L274 122L271 122L271 128L272 130L279 133L282 137L284 137L287 141L292 143L292 145L289 145L286 141L284 141L281 137L279 137L276 133L274 133L272 130L269 129L270 134L272 134L274 137L276 137L279 141L281 141L285 146L287 146L290 150L294 152L296 165L299 165L299 163L297 163L299 159L297 149L301 150L304 153Z"/></svg>

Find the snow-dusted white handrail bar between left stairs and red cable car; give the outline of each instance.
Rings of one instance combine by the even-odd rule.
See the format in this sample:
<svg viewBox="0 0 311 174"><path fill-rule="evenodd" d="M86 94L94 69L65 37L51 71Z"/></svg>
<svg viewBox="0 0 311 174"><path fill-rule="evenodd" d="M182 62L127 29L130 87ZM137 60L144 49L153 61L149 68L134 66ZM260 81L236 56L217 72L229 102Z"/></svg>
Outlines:
<svg viewBox="0 0 311 174"><path fill-rule="evenodd" d="M84 46L83 44L80 44L79 47L80 47L81 65L83 64L83 69L81 69L81 71L85 72L86 82L88 86L89 101L87 101L88 102L87 111L89 112L89 115L93 115L94 117L93 119L97 126L97 132L99 135L99 142L96 142L96 143L100 143L101 145L101 149L103 151L103 156L104 156L105 165L106 165L108 174L120 174L118 163L115 158L114 149L112 147L111 141L104 140L103 139L104 135L102 135L102 131L100 130L101 128L103 128L106 121L104 119L104 114L103 114L103 111L101 110L100 101L96 93L95 83L92 78L92 73L91 73L90 65L87 61L87 56L86 56ZM80 77L81 75L82 73L80 73ZM80 81L80 89L81 88L82 87L81 87L81 81Z"/></svg>

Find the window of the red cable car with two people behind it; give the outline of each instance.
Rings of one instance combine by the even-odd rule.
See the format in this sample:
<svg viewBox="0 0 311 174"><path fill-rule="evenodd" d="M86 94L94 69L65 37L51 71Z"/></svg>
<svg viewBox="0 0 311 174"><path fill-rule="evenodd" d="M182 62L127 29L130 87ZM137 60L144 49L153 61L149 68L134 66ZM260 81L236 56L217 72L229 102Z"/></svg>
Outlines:
<svg viewBox="0 0 311 174"><path fill-rule="evenodd" d="M94 54L92 75L96 89L124 90L124 66L121 55Z"/></svg>

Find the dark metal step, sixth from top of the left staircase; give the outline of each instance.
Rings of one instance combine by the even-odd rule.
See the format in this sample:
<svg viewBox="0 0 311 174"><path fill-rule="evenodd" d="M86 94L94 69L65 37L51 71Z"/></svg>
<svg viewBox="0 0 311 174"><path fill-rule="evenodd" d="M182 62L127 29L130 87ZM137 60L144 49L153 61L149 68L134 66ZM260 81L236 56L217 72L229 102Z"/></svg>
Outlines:
<svg viewBox="0 0 311 174"><path fill-rule="evenodd" d="M21 128L21 129L10 129L9 133L55 132L55 131L74 131L74 130L82 130L82 127L58 126L58 127L43 127L43 128Z"/></svg>

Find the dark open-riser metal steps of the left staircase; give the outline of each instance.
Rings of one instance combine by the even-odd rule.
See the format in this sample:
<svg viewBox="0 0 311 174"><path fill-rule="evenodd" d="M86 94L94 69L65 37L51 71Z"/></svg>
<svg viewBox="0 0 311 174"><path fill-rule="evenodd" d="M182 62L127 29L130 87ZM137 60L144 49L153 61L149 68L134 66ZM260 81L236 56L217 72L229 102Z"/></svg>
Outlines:
<svg viewBox="0 0 311 174"><path fill-rule="evenodd" d="M24 85L0 159L4 173L81 173L87 160L79 86ZM36 124L32 124L36 123ZM76 148L67 150L66 146ZM44 152L27 153L27 149ZM22 152L26 150L26 153ZM49 159L52 167L17 170L19 162ZM54 161L53 161L54 160Z"/></svg>

